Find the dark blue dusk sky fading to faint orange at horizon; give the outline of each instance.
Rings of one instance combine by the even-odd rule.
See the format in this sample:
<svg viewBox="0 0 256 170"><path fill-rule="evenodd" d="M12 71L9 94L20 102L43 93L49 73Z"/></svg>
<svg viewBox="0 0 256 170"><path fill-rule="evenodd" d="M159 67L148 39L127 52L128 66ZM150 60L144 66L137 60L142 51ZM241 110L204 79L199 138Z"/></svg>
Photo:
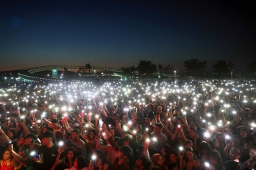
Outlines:
<svg viewBox="0 0 256 170"><path fill-rule="evenodd" d="M256 59L252 1L1 0L0 71Z"/></svg>

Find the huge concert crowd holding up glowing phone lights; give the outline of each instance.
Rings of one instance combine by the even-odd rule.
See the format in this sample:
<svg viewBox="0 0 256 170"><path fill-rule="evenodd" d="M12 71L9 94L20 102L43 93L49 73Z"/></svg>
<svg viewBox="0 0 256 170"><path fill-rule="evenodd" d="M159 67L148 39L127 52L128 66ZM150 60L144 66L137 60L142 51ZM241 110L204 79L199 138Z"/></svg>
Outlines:
<svg viewBox="0 0 256 170"><path fill-rule="evenodd" d="M13 82L1 170L256 169L255 82Z"/></svg>

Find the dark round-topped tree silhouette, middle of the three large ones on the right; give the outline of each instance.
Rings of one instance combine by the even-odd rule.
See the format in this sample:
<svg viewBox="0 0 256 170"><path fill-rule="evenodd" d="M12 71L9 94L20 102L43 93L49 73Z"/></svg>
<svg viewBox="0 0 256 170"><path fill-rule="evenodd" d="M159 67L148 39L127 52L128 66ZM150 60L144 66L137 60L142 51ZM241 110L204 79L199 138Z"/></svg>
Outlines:
<svg viewBox="0 0 256 170"><path fill-rule="evenodd" d="M186 67L188 72L198 72L206 69L207 63L206 61L200 62L198 59L193 58L191 60L186 60L184 62L184 67Z"/></svg>

